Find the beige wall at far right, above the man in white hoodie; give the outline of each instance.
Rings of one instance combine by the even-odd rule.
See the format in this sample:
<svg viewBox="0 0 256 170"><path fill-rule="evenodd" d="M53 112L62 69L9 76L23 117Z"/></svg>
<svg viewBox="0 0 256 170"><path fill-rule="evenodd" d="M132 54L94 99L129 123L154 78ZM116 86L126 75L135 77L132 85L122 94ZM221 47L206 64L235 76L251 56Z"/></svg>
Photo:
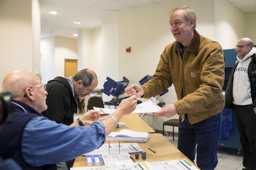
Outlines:
<svg viewBox="0 0 256 170"><path fill-rule="evenodd" d="M256 12L245 14L245 36L256 44Z"/></svg>

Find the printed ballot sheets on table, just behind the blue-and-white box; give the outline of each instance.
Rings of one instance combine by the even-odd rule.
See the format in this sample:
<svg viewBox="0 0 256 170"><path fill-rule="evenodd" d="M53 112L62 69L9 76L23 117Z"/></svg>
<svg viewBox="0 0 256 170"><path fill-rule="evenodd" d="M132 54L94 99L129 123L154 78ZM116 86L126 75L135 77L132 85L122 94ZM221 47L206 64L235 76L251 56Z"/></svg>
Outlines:
<svg viewBox="0 0 256 170"><path fill-rule="evenodd" d="M120 143L120 153L141 153L143 150L139 147L137 143ZM106 155L106 154L118 154L119 153L119 143L103 144L98 149L83 155Z"/></svg>

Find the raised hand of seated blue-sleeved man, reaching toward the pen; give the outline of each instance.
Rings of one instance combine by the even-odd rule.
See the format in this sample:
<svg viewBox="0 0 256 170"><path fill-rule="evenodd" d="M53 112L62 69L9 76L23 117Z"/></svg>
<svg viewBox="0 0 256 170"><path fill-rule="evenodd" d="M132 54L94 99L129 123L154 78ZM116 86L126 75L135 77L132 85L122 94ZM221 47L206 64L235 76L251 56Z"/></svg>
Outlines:
<svg viewBox="0 0 256 170"><path fill-rule="evenodd" d="M127 99L123 99L121 103L119 104L117 111L121 111L121 113L130 114L133 112L137 106L137 96L134 95L132 97L129 97Z"/></svg>

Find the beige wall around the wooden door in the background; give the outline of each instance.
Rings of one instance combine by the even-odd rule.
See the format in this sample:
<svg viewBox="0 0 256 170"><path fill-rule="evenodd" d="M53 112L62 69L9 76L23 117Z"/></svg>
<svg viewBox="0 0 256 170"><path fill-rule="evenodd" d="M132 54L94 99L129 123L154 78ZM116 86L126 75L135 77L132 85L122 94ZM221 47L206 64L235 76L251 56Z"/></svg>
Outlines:
<svg viewBox="0 0 256 170"><path fill-rule="evenodd" d="M77 59L77 39L55 36L55 77L65 77L65 59Z"/></svg>

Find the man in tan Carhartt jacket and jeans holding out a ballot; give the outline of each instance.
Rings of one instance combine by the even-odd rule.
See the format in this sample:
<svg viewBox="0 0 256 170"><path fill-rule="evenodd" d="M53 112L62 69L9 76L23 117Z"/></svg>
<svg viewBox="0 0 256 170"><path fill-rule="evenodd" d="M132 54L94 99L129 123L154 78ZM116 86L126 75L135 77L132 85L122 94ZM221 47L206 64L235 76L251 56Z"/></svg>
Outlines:
<svg viewBox="0 0 256 170"><path fill-rule="evenodd" d="M191 8L172 9L169 22L176 41L165 47L153 78L142 86L131 84L125 91L130 96L150 98L173 84L178 101L153 114L171 117L178 113L178 149L194 161L197 144L197 166L213 170L218 163L220 112L224 107L223 51L217 42L197 33Z"/></svg>

